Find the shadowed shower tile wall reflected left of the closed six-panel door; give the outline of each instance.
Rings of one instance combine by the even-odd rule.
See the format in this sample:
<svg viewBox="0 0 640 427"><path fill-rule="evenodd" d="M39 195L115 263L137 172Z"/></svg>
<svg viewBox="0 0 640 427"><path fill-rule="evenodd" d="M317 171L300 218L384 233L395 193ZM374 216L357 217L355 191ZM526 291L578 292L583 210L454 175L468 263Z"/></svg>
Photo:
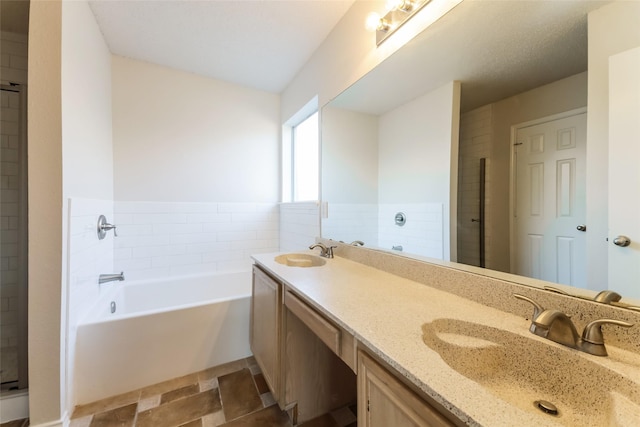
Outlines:
<svg viewBox="0 0 640 427"><path fill-rule="evenodd" d="M487 105L460 117L458 173L458 262L480 265L480 229L472 218L480 213L480 159L486 158L485 178L485 262L491 258L491 143L492 106Z"/></svg>

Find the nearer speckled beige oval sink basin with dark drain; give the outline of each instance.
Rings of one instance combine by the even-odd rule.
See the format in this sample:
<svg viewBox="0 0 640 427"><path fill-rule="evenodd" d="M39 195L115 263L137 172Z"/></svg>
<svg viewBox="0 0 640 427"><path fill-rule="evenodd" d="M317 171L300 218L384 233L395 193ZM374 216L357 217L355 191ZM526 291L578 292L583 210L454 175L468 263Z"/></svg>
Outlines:
<svg viewBox="0 0 640 427"><path fill-rule="evenodd" d="M634 425L640 384L575 350L456 319L422 326L424 343L455 371L527 412L565 425ZM551 402L557 415L537 402ZM542 403L543 406L546 403Z"/></svg>

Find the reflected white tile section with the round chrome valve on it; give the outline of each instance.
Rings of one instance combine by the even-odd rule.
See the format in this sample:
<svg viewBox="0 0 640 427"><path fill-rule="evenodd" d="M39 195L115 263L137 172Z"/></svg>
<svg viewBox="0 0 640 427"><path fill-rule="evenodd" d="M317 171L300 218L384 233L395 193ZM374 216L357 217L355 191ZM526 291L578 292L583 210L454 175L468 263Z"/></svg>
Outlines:
<svg viewBox="0 0 640 427"><path fill-rule="evenodd" d="M444 206L442 203L380 204L379 246L391 249L401 245L403 251L430 258L444 258ZM396 213L403 212L406 223L395 223Z"/></svg>

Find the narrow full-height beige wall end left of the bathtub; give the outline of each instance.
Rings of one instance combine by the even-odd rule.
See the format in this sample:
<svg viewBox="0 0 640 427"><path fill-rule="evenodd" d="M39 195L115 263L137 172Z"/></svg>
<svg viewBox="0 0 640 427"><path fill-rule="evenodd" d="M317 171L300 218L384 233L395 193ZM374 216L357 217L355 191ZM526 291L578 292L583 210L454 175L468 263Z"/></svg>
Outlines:
<svg viewBox="0 0 640 427"><path fill-rule="evenodd" d="M55 425L64 405L62 2L32 2L29 27L29 417Z"/></svg>

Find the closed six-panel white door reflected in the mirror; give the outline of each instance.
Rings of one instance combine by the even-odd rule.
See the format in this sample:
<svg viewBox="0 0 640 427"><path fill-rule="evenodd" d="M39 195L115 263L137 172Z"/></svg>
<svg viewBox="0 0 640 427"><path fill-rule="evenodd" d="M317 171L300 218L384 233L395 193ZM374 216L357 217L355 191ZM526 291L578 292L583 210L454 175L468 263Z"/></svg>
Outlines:
<svg viewBox="0 0 640 427"><path fill-rule="evenodd" d="M586 113L518 127L515 134L514 273L586 284Z"/></svg>

